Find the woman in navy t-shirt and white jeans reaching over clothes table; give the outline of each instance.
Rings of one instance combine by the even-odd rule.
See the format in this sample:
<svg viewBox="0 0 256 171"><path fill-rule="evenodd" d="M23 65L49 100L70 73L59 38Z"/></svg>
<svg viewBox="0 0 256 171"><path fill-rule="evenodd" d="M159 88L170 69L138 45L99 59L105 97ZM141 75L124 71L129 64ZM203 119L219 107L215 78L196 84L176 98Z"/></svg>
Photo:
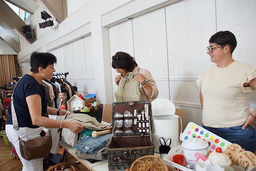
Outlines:
<svg viewBox="0 0 256 171"><path fill-rule="evenodd" d="M21 139L40 137L43 127L47 128L68 128L78 134L83 126L77 122L67 122L49 119L46 112L50 115L65 115L67 111L48 107L47 98L43 87L40 85L43 79L51 79L55 72L54 64L56 57L51 53L34 52L31 54L31 72L25 74L15 87L13 92L13 106L18 120L18 134ZM13 128L11 103L6 122L6 134L9 141L14 145L19 158L23 164L23 171L43 171L43 159L26 160L22 158L19 150L19 140Z"/></svg>

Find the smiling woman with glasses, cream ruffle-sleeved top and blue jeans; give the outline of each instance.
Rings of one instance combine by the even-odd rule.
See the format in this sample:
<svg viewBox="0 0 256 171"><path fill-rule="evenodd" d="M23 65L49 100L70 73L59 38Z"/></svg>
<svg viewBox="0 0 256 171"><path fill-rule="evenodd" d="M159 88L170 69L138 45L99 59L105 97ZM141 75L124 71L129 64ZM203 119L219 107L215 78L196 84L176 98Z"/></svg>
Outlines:
<svg viewBox="0 0 256 171"><path fill-rule="evenodd" d="M203 128L254 152L256 109L250 113L249 93L256 89L256 69L232 58L236 45L230 31L219 31L209 40L207 54L216 64L197 80Z"/></svg>

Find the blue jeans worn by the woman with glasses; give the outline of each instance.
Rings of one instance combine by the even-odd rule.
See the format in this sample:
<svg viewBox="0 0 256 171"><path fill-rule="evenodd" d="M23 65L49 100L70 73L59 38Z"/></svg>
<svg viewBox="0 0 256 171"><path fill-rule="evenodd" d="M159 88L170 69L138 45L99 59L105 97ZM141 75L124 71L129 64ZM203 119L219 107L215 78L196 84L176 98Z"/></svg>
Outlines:
<svg viewBox="0 0 256 171"><path fill-rule="evenodd" d="M255 152L256 149L256 132L251 126L242 129L243 125L230 127L230 128L212 128L204 126L203 128L218 135L219 137L240 145L246 151Z"/></svg>

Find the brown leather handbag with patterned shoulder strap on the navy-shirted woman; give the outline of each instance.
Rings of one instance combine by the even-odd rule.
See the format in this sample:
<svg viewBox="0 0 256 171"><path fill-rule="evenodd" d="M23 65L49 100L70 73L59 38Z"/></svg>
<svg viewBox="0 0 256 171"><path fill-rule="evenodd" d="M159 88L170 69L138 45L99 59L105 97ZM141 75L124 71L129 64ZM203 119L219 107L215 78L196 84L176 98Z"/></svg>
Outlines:
<svg viewBox="0 0 256 171"><path fill-rule="evenodd" d="M19 82L17 83L17 85L19 84ZM17 85L15 87L17 87ZM18 133L19 124L17 121L16 112L13 106L14 90L11 97L11 112L12 112L13 128ZM46 116L48 117L48 113L46 113ZM20 144L21 156L26 160L33 160L33 159L46 157L50 153L52 148L52 136L51 136L50 128L49 128L49 134L46 136L29 139L27 141L22 140L20 137L18 139Z"/></svg>

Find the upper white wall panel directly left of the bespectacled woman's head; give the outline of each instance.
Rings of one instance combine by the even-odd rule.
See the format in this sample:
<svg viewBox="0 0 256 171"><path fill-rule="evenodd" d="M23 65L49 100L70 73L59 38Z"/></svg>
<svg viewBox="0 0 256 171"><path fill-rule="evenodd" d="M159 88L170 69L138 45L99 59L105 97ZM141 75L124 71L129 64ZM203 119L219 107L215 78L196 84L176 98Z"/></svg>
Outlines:
<svg viewBox="0 0 256 171"><path fill-rule="evenodd" d="M166 7L169 75L199 76L210 66L206 46L215 27L214 0L181 1Z"/></svg>

